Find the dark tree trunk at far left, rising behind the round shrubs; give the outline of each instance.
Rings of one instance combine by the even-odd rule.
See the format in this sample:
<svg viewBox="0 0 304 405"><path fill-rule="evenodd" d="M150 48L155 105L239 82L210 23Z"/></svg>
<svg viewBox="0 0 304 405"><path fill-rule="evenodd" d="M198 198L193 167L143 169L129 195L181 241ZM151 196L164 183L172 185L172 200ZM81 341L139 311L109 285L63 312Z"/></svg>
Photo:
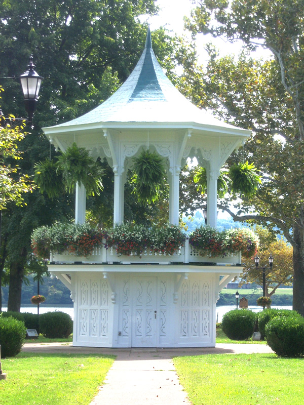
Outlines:
<svg viewBox="0 0 304 405"><path fill-rule="evenodd" d="M10 267L8 311L20 312L24 261L13 262Z"/></svg>

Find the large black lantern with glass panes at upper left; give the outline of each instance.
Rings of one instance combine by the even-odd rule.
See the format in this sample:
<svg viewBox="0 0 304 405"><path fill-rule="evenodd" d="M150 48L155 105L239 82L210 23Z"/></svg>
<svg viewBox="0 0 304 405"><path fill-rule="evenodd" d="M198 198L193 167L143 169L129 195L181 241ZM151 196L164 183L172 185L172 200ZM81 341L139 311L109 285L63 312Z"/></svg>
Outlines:
<svg viewBox="0 0 304 405"><path fill-rule="evenodd" d="M43 77L34 71L33 56L29 58L28 70L21 74L20 82L24 95L25 109L28 113L28 121L31 124L37 106L39 90Z"/></svg>

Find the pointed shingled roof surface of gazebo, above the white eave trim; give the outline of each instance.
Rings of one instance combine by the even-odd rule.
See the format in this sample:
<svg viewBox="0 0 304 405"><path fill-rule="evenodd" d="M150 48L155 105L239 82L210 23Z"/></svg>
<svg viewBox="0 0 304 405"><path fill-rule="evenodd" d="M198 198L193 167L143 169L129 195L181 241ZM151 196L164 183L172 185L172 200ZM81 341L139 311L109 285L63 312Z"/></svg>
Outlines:
<svg viewBox="0 0 304 405"><path fill-rule="evenodd" d="M94 123L195 123L236 129L179 93L157 61L149 29L143 53L126 82L92 111L55 128Z"/></svg>

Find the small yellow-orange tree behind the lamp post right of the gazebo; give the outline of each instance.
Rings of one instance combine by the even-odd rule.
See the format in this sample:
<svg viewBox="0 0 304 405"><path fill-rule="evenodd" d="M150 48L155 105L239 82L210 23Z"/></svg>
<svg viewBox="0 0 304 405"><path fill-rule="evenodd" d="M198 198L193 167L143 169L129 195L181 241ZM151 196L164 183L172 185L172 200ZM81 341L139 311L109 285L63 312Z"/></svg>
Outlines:
<svg viewBox="0 0 304 405"><path fill-rule="evenodd" d="M265 270L265 295L271 297L282 285L292 285L292 247L283 238L275 238L273 233L261 226L256 226L255 232L259 236L259 266L269 267L268 258L270 254L275 258L272 270ZM243 261L245 268L240 276L241 285L245 282L256 282L262 286L263 273L256 269L253 259L243 259Z"/></svg>

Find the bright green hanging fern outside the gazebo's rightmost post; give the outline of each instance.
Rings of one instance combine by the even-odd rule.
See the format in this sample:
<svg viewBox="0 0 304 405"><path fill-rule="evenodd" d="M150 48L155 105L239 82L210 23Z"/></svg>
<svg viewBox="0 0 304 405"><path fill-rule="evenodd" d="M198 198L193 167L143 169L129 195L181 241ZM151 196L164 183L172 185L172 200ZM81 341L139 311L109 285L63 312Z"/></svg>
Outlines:
<svg viewBox="0 0 304 405"><path fill-rule="evenodd" d="M248 198L256 194L257 186L261 183L261 179L253 164L249 165L248 161L245 161L245 163L236 163L231 166L229 175L232 183L232 191L235 194L240 193Z"/></svg>

